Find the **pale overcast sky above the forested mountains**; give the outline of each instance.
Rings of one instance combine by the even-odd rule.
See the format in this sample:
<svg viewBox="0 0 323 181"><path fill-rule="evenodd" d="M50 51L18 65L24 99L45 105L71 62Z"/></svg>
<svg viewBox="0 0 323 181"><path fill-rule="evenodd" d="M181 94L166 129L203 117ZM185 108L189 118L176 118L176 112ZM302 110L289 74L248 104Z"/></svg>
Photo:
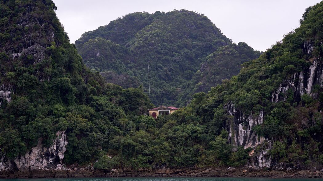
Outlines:
<svg viewBox="0 0 323 181"><path fill-rule="evenodd" d="M134 12L186 9L206 15L234 43L266 51L299 27L305 9L320 0L53 0L72 43L84 32Z"/></svg>

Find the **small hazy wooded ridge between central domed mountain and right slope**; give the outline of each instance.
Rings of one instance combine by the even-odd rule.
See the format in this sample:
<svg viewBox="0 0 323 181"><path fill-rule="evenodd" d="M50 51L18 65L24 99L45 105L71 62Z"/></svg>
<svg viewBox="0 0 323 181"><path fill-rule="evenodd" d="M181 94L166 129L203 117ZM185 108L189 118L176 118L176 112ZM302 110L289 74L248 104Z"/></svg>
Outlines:
<svg viewBox="0 0 323 181"><path fill-rule="evenodd" d="M254 51L246 43L232 43L220 47L217 51L208 55L206 61L201 63L201 68L194 73L187 87L177 96L176 104L185 106L198 92L208 92L224 79L230 79L239 73L241 64L254 60L261 52Z"/></svg>

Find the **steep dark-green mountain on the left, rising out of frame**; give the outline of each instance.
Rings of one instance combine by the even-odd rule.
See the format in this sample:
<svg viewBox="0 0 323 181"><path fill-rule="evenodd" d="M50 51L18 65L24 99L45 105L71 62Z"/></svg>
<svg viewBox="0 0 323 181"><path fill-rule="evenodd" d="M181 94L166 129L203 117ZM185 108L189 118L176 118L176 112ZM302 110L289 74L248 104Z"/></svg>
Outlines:
<svg viewBox="0 0 323 181"><path fill-rule="evenodd" d="M97 159L105 139L149 108L141 89L106 84L83 64L56 9L51 0L0 1L2 173Z"/></svg>

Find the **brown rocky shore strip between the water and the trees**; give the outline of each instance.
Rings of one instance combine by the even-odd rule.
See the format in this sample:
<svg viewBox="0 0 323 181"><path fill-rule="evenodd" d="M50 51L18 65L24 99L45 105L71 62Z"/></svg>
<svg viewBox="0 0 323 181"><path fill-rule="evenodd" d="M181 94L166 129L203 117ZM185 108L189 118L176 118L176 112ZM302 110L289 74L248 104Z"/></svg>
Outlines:
<svg viewBox="0 0 323 181"><path fill-rule="evenodd" d="M156 169L128 170L112 169L111 171L94 170L93 168L74 168L66 170L35 170L28 172L1 172L0 178L65 178L65 177L270 177L270 178L323 178L323 169L309 170L256 170L252 168L230 169Z"/></svg>

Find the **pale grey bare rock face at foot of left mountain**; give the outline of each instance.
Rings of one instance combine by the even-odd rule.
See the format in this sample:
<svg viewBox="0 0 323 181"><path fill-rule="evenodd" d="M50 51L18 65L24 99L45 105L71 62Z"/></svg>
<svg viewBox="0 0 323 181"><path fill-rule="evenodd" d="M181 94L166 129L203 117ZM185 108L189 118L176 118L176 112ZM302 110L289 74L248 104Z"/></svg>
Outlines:
<svg viewBox="0 0 323 181"><path fill-rule="evenodd" d="M18 156L14 160L6 159L5 154L0 156L0 171L19 170L22 172L32 170L64 170L62 160L68 143L65 131L57 131L56 139L49 148L43 147L41 140L24 156Z"/></svg>

